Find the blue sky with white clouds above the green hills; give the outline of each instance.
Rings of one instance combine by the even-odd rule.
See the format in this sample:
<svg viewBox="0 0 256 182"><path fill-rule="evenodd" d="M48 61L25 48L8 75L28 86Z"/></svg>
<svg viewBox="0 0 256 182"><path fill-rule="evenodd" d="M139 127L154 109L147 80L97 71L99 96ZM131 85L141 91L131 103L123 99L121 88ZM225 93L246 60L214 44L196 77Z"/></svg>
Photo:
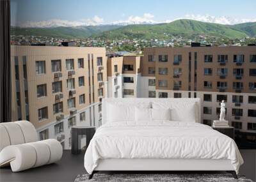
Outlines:
<svg viewBox="0 0 256 182"><path fill-rule="evenodd" d="M11 0L11 24L22 27L143 24L194 19L256 22L255 0Z"/></svg>

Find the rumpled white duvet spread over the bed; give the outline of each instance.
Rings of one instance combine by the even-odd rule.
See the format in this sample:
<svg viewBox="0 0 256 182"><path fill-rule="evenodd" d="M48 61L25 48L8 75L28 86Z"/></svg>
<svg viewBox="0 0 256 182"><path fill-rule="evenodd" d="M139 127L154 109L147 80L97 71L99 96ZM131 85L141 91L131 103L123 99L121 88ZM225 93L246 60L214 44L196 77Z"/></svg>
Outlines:
<svg viewBox="0 0 256 182"><path fill-rule="evenodd" d="M230 137L207 125L177 121L102 125L84 155L86 171L92 174L106 158L229 159L237 173L243 164Z"/></svg>

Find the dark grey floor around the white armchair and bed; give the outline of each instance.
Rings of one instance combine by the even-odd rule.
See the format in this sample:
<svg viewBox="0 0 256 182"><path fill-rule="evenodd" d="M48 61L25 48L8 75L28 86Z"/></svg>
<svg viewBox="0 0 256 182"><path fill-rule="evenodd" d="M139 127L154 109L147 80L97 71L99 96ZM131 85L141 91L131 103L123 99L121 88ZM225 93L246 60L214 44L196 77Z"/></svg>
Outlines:
<svg viewBox="0 0 256 182"><path fill-rule="evenodd" d="M240 174L256 181L256 150L241 150L244 165ZM42 167L22 172L12 172L10 167L0 169L0 181L74 181L78 174L86 173L83 165L84 154L72 155L70 151L63 151L62 159Z"/></svg>

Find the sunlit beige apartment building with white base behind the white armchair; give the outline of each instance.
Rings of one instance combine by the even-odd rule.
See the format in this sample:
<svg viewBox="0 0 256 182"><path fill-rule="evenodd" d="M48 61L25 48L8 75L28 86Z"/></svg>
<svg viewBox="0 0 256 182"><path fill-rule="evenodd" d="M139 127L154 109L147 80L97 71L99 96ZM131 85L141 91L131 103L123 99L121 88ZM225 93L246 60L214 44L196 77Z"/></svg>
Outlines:
<svg viewBox="0 0 256 182"><path fill-rule="evenodd" d="M28 120L39 139L70 148L75 125L101 125L108 95L105 48L12 46L12 120Z"/></svg>

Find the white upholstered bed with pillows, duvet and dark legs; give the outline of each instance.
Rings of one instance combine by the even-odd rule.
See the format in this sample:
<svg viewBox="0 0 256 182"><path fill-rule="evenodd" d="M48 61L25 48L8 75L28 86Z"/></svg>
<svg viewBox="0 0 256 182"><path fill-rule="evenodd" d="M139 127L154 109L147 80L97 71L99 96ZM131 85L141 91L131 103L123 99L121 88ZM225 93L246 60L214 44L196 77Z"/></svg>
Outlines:
<svg viewBox="0 0 256 182"><path fill-rule="evenodd" d="M198 98L105 98L102 123L84 155L98 171L227 171L243 158L230 137L200 124Z"/></svg>

